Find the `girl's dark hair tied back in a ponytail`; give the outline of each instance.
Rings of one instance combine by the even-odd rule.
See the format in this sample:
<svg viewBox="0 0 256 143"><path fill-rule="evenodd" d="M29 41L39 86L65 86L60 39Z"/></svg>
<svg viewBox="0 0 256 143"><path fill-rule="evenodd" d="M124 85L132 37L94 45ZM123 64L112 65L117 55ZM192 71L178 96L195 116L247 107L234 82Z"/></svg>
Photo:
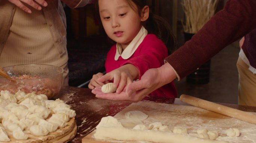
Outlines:
<svg viewBox="0 0 256 143"><path fill-rule="evenodd" d="M144 6L149 6L148 0L126 0L127 3L134 9L138 10L138 14L141 15L141 11ZM131 1L137 6L134 7ZM164 42L168 49L168 54L173 53L176 50L176 39L171 30L169 23L158 15L149 12L149 18L143 23L143 26L147 29L149 34L155 34L159 39Z"/></svg>

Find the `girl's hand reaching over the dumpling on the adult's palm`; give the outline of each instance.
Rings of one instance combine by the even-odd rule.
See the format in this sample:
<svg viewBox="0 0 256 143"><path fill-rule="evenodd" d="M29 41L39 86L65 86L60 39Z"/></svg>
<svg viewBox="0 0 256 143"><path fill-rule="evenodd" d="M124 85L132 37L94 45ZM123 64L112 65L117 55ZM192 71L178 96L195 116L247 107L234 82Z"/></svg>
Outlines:
<svg viewBox="0 0 256 143"><path fill-rule="evenodd" d="M110 71L98 79L99 82L105 82L109 80L114 81L114 86L118 87L116 89L116 93L120 93L122 90L125 90L125 86L128 86L132 83L133 78L129 70L122 66L118 69Z"/></svg>

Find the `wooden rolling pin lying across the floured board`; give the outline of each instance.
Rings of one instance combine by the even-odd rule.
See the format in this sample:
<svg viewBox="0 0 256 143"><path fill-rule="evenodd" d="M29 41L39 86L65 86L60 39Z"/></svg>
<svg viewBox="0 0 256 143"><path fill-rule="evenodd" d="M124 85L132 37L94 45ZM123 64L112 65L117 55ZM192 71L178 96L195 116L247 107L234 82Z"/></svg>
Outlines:
<svg viewBox="0 0 256 143"><path fill-rule="evenodd" d="M248 123L256 124L256 115L249 112L226 107L224 105L216 104L210 101L206 101L203 99L199 99L199 98L189 96L189 95L184 95L184 94L180 96L180 101L193 105L195 107L213 111L213 112L226 115L238 120L246 121Z"/></svg>

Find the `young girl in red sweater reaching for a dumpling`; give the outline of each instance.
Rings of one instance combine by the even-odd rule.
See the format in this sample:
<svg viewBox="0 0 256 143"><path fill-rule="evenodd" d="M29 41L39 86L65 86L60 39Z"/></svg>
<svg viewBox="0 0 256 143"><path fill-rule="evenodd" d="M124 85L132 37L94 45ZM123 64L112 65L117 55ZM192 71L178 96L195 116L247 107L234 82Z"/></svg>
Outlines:
<svg viewBox="0 0 256 143"><path fill-rule="evenodd" d="M146 70L164 64L168 56L165 44L174 47L174 38L167 22L149 12L146 1L98 0L104 30L116 44L107 54L106 74L95 74L88 85L90 89L113 81L120 93L132 81L140 80ZM175 98L177 91L171 82L150 95Z"/></svg>

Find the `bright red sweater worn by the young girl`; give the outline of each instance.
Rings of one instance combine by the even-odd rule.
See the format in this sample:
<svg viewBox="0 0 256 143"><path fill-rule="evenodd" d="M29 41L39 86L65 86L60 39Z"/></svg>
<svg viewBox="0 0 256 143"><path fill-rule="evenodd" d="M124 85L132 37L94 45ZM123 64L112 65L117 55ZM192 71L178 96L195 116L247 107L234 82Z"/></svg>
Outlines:
<svg viewBox="0 0 256 143"><path fill-rule="evenodd" d="M113 45L107 53L105 63L106 72L108 73L125 64L132 64L139 70L139 79L148 69L162 66L164 64L164 58L168 56L167 48L164 43L153 34L148 34L138 46L134 54L132 54L132 56L127 60L124 60L120 56L116 61L115 54L116 44ZM156 89L150 93L150 95L176 98L177 90L174 83L171 82L159 89Z"/></svg>

